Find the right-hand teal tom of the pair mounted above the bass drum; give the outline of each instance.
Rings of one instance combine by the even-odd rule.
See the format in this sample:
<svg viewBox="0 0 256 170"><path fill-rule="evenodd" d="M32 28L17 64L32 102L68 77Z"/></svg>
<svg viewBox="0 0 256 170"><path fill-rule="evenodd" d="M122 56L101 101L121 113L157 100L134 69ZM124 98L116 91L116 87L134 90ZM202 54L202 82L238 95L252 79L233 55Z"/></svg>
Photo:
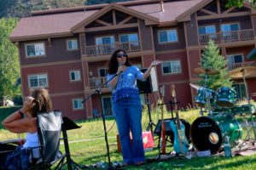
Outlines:
<svg viewBox="0 0 256 170"><path fill-rule="evenodd" d="M236 91L232 88L219 88L216 94L216 104L219 107L233 107L236 104Z"/></svg>

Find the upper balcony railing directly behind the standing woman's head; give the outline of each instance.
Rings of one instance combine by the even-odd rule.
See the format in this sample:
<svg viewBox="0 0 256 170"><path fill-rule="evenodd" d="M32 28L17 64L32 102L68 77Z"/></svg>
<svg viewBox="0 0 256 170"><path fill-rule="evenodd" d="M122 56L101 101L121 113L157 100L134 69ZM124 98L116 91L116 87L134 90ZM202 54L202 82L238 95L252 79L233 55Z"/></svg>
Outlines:
<svg viewBox="0 0 256 170"><path fill-rule="evenodd" d="M127 53L141 50L140 42L115 42L109 44L86 46L87 56L113 54L116 49L124 49Z"/></svg>

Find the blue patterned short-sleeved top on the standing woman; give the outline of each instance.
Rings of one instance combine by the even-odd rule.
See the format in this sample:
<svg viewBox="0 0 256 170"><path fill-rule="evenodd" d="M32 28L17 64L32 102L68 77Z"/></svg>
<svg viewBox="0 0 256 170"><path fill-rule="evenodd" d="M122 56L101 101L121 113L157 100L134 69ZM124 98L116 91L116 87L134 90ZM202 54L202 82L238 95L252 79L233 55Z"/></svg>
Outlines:
<svg viewBox="0 0 256 170"><path fill-rule="evenodd" d="M108 80L113 78L115 74L108 75ZM118 77L118 82L115 88L111 88L109 83L108 87L112 90L112 100L114 102L124 98L139 98L139 90L137 88L137 79L146 81L143 79L143 72L140 71L137 66L129 66Z"/></svg>

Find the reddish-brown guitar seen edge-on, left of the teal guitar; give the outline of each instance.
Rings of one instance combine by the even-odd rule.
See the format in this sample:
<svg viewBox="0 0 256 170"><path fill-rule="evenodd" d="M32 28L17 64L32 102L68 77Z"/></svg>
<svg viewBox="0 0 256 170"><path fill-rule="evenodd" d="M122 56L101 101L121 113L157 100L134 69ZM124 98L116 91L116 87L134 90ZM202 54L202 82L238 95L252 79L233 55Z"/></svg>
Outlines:
<svg viewBox="0 0 256 170"><path fill-rule="evenodd" d="M160 94L162 96L162 105L161 105L161 137L160 137L160 145L161 145L161 154L166 154L166 122L164 120L164 97L165 97L165 86L160 88Z"/></svg>

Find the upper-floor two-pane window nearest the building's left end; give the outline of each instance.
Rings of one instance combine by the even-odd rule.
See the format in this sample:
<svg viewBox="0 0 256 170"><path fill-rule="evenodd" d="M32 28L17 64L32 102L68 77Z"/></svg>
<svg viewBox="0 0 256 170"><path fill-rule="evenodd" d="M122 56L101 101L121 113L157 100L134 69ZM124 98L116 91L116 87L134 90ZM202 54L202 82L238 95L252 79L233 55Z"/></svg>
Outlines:
<svg viewBox="0 0 256 170"><path fill-rule="evenodd" d="M44 43L26 44L26 56L41 56L45 54Z"/></svg>

